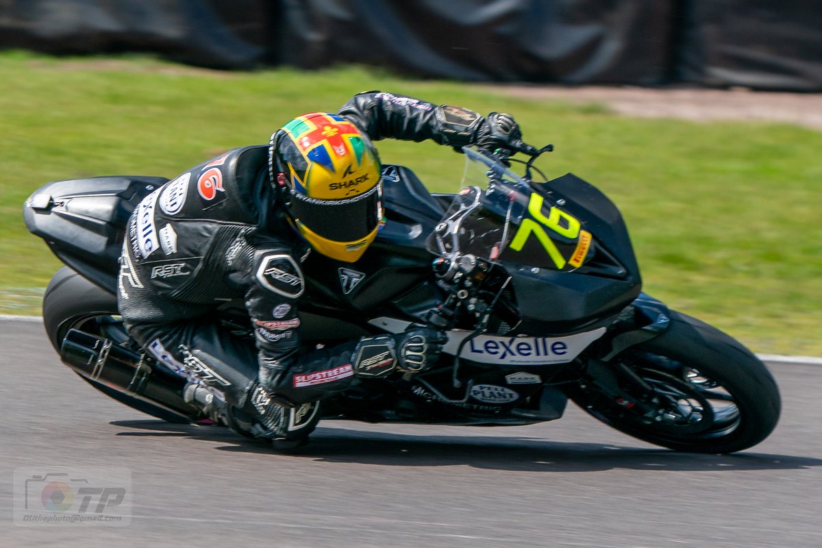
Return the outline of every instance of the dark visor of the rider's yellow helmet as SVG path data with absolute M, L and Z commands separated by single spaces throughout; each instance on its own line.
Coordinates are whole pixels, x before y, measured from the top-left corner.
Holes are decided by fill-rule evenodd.
M 361 240 L 380 222 L 380 185 L 345 200 L 320 200 L 292 192 L 291 214 L 313 233 L 332 242 Z

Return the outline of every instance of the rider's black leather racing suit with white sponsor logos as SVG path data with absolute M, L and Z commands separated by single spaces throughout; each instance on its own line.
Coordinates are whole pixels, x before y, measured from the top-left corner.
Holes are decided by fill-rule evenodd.
M 354 96 L 339 114 L 372 140 L 475 142 L 484 118 L 382 92 Z M 118 306 L 129 333 L 165 366 L 242 406 L 258 373 L 279 403 L 347 388 L 358 341 L 300 353 L 301 259 L 309 251 L 277 203 L 267 145 L 246 146 L 182 173 L 141 202 L 123 246 Z M 211 314 L 242 297 L 255 339 Z M 277 400 L 275 400 L 277 401 Z

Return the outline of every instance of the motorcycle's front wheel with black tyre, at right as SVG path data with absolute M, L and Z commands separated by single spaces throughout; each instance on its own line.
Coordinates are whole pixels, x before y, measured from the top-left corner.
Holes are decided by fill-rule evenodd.
M 688 315 L 671 311 L 671 324 L 662 334 L 626 349 L 611 363 L 626 366 L 651 389 L 642 394 L 654 402 L 651 412 L 649 403 L 643 408 L 630 398 L 605 394 L 595 379 L 567 393 L 593 417 L 651 444 L 733 453 L 760 443 L 779 419 L 782 401 L 764 364 L 734 338 Z M 623 389 L 636 392 L 635 387 Z

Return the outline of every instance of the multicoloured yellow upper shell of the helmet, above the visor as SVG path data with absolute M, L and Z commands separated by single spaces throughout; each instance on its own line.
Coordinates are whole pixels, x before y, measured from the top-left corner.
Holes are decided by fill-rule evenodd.
M 289 163 L 292 187 L 302 195 L 343 200 L 370 191 L 380 182 L 380 162 L 372 146 L 344 117 L 311 113 L 294 118 L 283 129 L 305 160 L 303 173 Z

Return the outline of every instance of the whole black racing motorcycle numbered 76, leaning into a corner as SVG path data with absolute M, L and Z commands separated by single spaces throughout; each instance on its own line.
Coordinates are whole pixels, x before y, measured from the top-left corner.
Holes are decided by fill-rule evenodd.
M 588 182 L 548 180 L 535 160 L 465 148 L 456 194 L 429 193 L 386 165 L 386 223 L 361 260 L 310 254 L 302 339 L 333 345 L 427 324 L 448 334 L 436 366 L 363 378 L 322 405 L 325 419 L 516 426 L 562 417 L 570 399 L 651 444 L 723 454 L 777 424 L 778 387 L 762 362 L 718 329 L 641 292 L 621 214 Z M 164 177 L 51 182 L 25 203 L 30 232 L 65 263 L 44 295 L 62 361 L 118 401 L 193 422 L 186 377 L 147 356 L 118 316 L 127 219 Z M 242 302 L 215 311 L 252 337 Z

